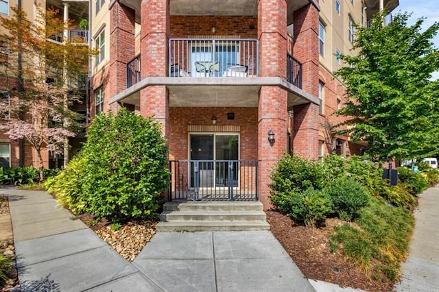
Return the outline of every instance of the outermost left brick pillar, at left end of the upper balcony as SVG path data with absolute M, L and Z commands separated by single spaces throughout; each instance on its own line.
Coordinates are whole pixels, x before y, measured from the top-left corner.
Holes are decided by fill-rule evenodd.
M 135 53 L 134 17 L 134 10 L 118 1 L 110 8 L 110 97 L 126 89 L 126 64 L 134 58 Z M 119 108 L 117 103 L 110 105 L 112 112 Z

